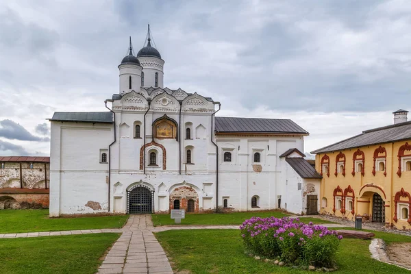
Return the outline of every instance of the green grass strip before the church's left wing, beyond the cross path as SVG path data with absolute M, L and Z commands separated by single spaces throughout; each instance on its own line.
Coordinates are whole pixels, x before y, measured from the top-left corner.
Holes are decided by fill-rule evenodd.
M 0 233 L 120 228 L 128 216 L 49 218 L 49 210 L 0 210 Z

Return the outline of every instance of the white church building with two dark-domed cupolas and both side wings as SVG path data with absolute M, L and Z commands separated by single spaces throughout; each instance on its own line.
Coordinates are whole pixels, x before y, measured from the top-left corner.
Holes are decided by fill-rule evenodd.
M 249 211 L 316 214 L 321 175 L 303 158 L 308 132 L 288 119 L 216 116 L 221 104 L 163 86 L 151 46 L 119 65 L 106 112 L 55 112 L 50 216 Z

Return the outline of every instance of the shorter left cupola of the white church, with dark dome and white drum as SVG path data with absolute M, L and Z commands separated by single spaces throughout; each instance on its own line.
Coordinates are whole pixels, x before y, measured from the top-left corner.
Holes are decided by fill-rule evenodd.
M 129 54 L 121 60 L 119 65 L 120 73 L 120 94 L 132 90 L 140 90 L 142 81 L 142 66 L 140 61 L 133 54 L 132 38 L 129 42 Z

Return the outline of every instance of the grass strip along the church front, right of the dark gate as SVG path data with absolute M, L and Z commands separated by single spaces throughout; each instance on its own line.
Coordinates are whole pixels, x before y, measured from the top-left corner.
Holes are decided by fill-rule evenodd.
M 186 219 L 182 219 L 182 223 L 179 225 L 240 225 L 253 216 L 282 218 L 288 216 L 288 214 L 279 211 L 186 214 Z M 170 214 L 152 214 L 151 219 L 154 226 L 175 225 L 174 219 L 170 218 Z M 312 223 L 332 223 L 311 217 L 301 218 L 300 220 L 304 223 L 310 221 Z

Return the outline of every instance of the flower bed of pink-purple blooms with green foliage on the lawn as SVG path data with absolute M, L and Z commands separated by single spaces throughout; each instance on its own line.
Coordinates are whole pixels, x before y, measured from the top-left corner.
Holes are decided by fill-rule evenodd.
M 339 240 L 336 232 L 322 225 L 306 225 L 298 218 L 253 217 L 240 226 L 248 251 L 287 264 L 332 267 Z

